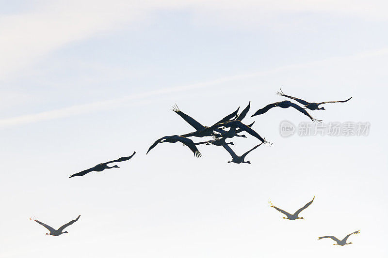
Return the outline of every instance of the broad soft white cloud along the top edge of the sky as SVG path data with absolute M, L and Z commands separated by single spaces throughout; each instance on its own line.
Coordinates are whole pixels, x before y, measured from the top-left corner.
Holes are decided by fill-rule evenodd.
M 0 79 L 71 42 L 136 26 L 159 9 L 186 8 L 196 22 L 242 28 L 242 24 L 274 27 L 277 19 L 299 12 L 387 20 L 387 5 L 379 0 L 43 1 L 27 13 L 0 16 Z

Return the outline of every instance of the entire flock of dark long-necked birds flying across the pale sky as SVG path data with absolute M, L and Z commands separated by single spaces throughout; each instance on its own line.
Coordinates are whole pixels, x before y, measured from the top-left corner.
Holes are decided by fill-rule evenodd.
M 299 98 L 296 98 L 296 97 L 292 97 L 292 96 L 286 95 L 286 94 L 283 93 L 283 91 L 281 89 L 280 89 L 280 91 L 278 91 L 276 93 L 278 95 L 280 95 L 280 96 L 284 96 L 284 97 L 287 97 L 289 99 L 295 100 L 298 103 L 302 104 L 304 107 L 299 106 L 299 105 L 297 105 L 297 104 L 295 104 L 295 103 L 293 103 L 293 102 L 291 102 L 289 100 L 284 100 L 284 101 L 275 102 L 275 103 L 269 104 L 267 106 L 264 106 L 263 108 L 260 108 L 251 117 L 264 114 L 268 110 L 270 110 L 271 108 L 277 107 L 277 106 L 281 107 L 281 108 L 293 107 L 296 110 L 298 110 L 299 112 L 301 112 L 302 114 L 306 115 L 309 119 L 311 119 L 311 121 L 313 121 L 313 122 L 321 122 L 321 120 L 314 119 L 307 112 L 306 109 L 310 109 L 310 110 L 324 110 L 324 107 L 319 107 L 319 106 L 322 105 L 322 104 L 326 104 L 326 103 L 347 102 L 347 101 L 349 101 L 352 98 L 352 97 L 350 97 L 349 99 L 344 100 L 344 101 L 326 101 L 326 102 L 316 103 L 316 102 L 307 102 L 305 100 L 302 100 L 302 99 L 299 99 Z M 220 121 L 214 123 L 211 126 L 204 126 L 204 125 L 202 125 L 201 123 L 196 121 L 194 118 L 192 118 L 189 115 L 187 115 L 187 114 L 183 113 L 182 111 L 180 111 L 178 106 L 175 105 L 175 106 L 172 107 L 171 110 L 174 111 L 175 113 L 177 113 L 183 120 L 185 120 L 187 123 L 189 123 L 192 127 L 194 127 L 195 131 L 191 132 L 191 133 L 188 133 L 188 134 L 184 134 L 184 135 L 172 135 L 172 136 L 161 137 L 161 138 L 157 139 L 149 147 L 149 149 L 146 152 L 146 154 L 148 154 L 148 152 L 150 152 L 153 148 L 155 148 L 159 143 L 163 143 L 163 142 L 169 142 L 169 143 L 180 142 L 183 145 L 187 146 L 194 153 L 195 157 L 200 158 L 202 156 L 202 154 L 201 154 L 201 152 L 199 152 L 197 146 L 201 145 L 201 144 L 206 144 L 206 145 L 222 146 L 230 154 L 230 156 L 232 157 L 232 160 L 228 161 L 227 163 L 233 162 L 233 163 L 237 163 L 237 164 L 240 164 L 240 163 L 251 164 L 249 161 L 245 161 L 246 155 L 248 155 L 250 152 L 254 151 L 256 148 L 258 148 L 262 144 L 270 144 L 270 145 L 272 145 L 272 143 L 266 141 L 265 138 L 261 137 L 255 130 L 253 130 L 251 128 L 252 125 L 255 122 L 253 122 L 253 123 L 251 123 L 249 125 L 245 125 L 245 124 L 242 123 L 242 120 L 245 118 L 245 116 L 247 115 L 247 113 L 248 113 L 248 111 L 250 109 L 250 104 L 251 104 L 251 102 L 249 102 L 248 106 L 246 106 L 242 110 L 242 112 L 240 114 L 238 114 L 239 109 L 240 109 L 240 107 L 239 107 L 239 108 L 237 108 L 236 111 L 234 111 L 233 113 L 227 115 L 226 117 L 224 117 L 223 119 L 221 119 Z M 226 129 L 228 129 L 228 130 L 226 130 Z M 250 134 L 253 137 L 256 137 L 257 139 L 259 139 L 261 141 L 261 143 L 256 145 L 255 147 L 253 147 L 249 151 L 243 153 L 241 156 L 239 156 L 229 147 L 229 145 L 234 145 L 234 143 L 233 142 L 226 142 L 226 140 L 227 140 L 227 138 L 233 138 L 233 137 L 244 137 L 244 138 L 246 138 L 245 135 L 241 134 L 242 132 L 245 132 L 247 134 Z M 192 139 L 190 139 L 189 137 L 212 137 L 212 140 L 203 141 L 203 142 L 195 142 L 194 143 L 194 141 Z M 103 171 L 105 169 L 110 169 L 110 168 L 113 168 L 113 167 L 114 168 L 119 168 L 117 165 L 109 167 L 108 164 L 115 163 L 115 162 L 127 161 L 127 160 L 131 159 L 135 155 L 135 153 L 136 152 L 133 152 L 133 154 L 128 156 L 128 157 L 121 157 L 119 159 L 115 159 L 115 160 L 108 161 L 108 162 L 105 162 L 105 163 L 100 163 L 100 164 L 96 165 L 95 167 L 91 167 L 91 168 L 85 169 L 85 170 L 83 170 L 81 172 L 75 173 L 75 174 L 71 175 L 69 178 L 76 177 L 76 176 L 84 176 L 87 173 L 92 172 L 92 171 L 101 172 L 101 171 Z M 275 210 L 285 214 L 286 217 L 283 217 L 284 219 L 289 219 L 289 220 L 304 219 L 303 217 L 299 217 L 299 213 L 302 212 L 303 210 L 305 210 L 308 206 L 310 206 L 312 204 L 312 202 L 314 201 L 314 198 L 315 197 L 313 197 L 313 199 L 310 202 L 308 202 L 305 206 L 303 206 L 302 208 L 300 208 L 299 210 L 297 210 L 293 214 L 291 214 L 289 212 L 286 212 L 286 211 L 276 207 L 275 205 L 272 204 L 271 201 L 269 201 L 269 204 Z M 66 223 L 65 225 L 63 225 L 62 227 L 60 227 L 58 229 L 54 229 L 54 228 L 50 227 L 49 225 L 47 225 L 47 224 L 45 224 L 43 222 L 38 221 L 36 218 L 31 218 L 31 220 L 33 220 L 33 221 L 37 222 L 38 224 L 42 225 L 43 227 L 47 228 L 50 231 L 50 233 L 46 233 L 46 235 L 59 236 L 59 235 L 64 234 L 64 233 L 68 233 L 67 231 L 63 231 L 63 230 L 66 227 L 68 227 L 68 226 L 72 225 L 73 223 L 75 223 L 76 221 L 78 221 L 80 216 L 81 215 L 79 215 L 75 220 L 72 220 L 72 221 Z M 345 244 L 351 244 L 352 242 L 347 243 L 347 239 L 352 234 L 358 234 L 358 233 L 359 233 L 359 230 L 357 230 L 357 231 L 355 231 L 353 233 L 350 233 L 349 235 L 344 237 L 342 240 L 339 240 L 338 238 L 336 238 L 334 236 L 323 236 L 323 237 L 319 237 L 318 239 L 320 240 L 320 239 L 323 239 L 323 238 L 331 238 L 332 240 L 337 242 L 336 244 L 343 246 Z

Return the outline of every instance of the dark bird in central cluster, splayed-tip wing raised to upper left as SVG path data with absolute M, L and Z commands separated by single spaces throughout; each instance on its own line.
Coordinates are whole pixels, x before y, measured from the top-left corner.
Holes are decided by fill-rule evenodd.
M 236 118 L 237 117 L 237 112 L 239 111 L 239 109 L 240 109 L 240 107 L 237 108 L 236 111 L 234 111 L 233 113 L 227 115 L 226 117 L 224 117 L 223 119 L 221 119 L 220 121 L 218 121 L 216 123 L 222 123 L 222 122 L 229 121 L 231 119 Z M 207 131 L 206 130 L 207 128 L 209 128 L 208 126 L 203 126 L 201 123 L 196 121 L 191 116 L 189 116 L 189 115 L 183 113 L 182 111 L 180 111 L 179 107 L 177 106 L 177 104 L 175 104 L 175 106 L 173 106 L 171 108 L 171 110 L 174 111 L 175 113 L 177 113 L 181 118 L 183 118 L 186 122 L 188 122 L 196 130 L 195 132 L 192 132 L 192 133 L 189 133 L 189 134 L 185 134 L 185 135 L 181 135 L 182 137 L 193 137 L 193 136 L 194 137 L 206 137 L 206 136 L 213 136 L 213 135 L 215 135 L 212 131 Z M 226 133 L 223 130 L 215 130 L 215 131 L 220 133 L 220 134 Z

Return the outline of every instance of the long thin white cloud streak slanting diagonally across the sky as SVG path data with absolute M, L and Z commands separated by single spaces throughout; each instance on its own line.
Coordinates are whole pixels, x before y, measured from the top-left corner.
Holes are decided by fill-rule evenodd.
M 65 117 L 71 117 L 71 116 L 81 115 L 85 113 L 90 113 L 98 110 L 106 110 L 106 109 L 122 106 L 132 100 L 139 100 L 139 101 L 131 104 L 131 106 L 141 106 L 141 105 L 149 104 L 150 100 L 146 98 L 149 98 L 152 96 L 191 91 L 191 90 L 196 90 L 201 88 L 208 88 L 208 87 L 216 86 L 230 81 L 266 76 L 266 75 L 276 74 L 279 72 L 288 71 L 292 69 L 318 65 L 322 63 L 330 63 L 330 62 L 338 63 L 339 61 L 354 61 L 354 60 L 360 60 L 360 59 L 372 58 L 372 57 L 384 56 L 384 55 L 388 55 L 388 48 L 361 52 L 351 56 L 332 57 L 332 58 L 328 58 L 320 61 L 286 65 L 286 66 L 281 66 L 281 67 L 277 67 L 266 71 L 258 71 L 254 73 L 246 73 L 246 74 L 235 75 L 235 76 L 226 76 L 223 78 L 214 79 L 206 82 L 194 83 L 194 84 L 189 84 L 185 86 L 164 88 L 161 90 L 142 92 L 142 93 L 132 94 L 129 96 L 115 98 L 111 100 L 104 100 L 104 101 L 98 101 L 98 102 L 93 102 L 88 104 L 75 105 L 75 106 L 40 112 L 36 114 L 2 119 L 0 120 L 0 127 L 15 126 L 19 124 L 33 123 L 33 122 L 45 121 L 45 120 L 53 120 L 53 119 L 59 119 L 59 118 L 65 118 Z

